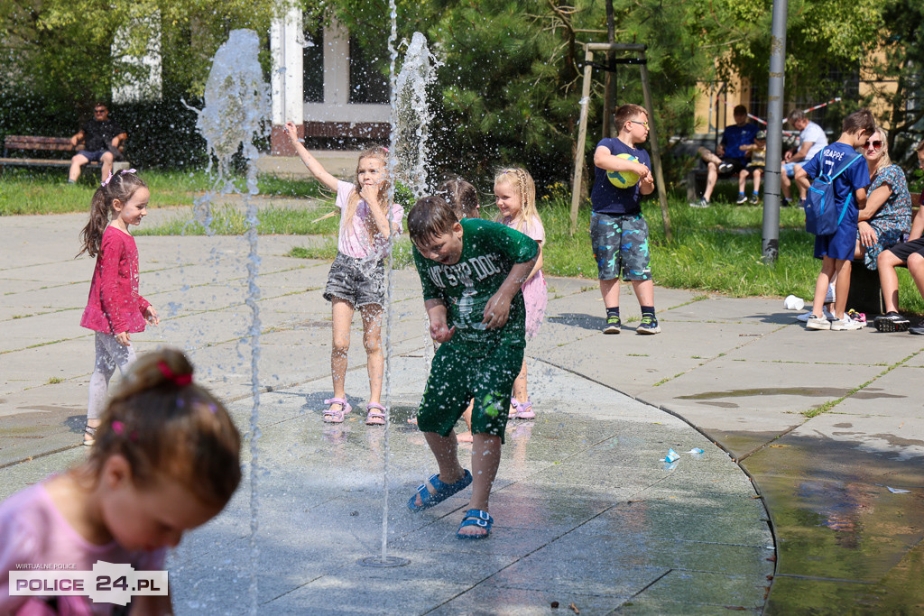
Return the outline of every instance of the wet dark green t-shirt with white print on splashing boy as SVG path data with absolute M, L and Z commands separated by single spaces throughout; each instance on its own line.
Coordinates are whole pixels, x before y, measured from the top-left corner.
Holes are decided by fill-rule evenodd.
M 504 283 L 516 263 L 525 263 L 539 254 L 539 244 L 529 236 L 501 223 L 464 218 L 462 255 L 457 263 L 444 265 L 425 259 L 417 247 L 414 262 L 423 286 L 423 298 L 441 299 L 446 320 L 456 332 L 451 344 L 466 344 L 487 353 L 496 344 L 526 346 L 526 307 L 517 291 L 510 302 L 510 316 L 504 327 L 485 330 L 481 324 L 484 307 Z

